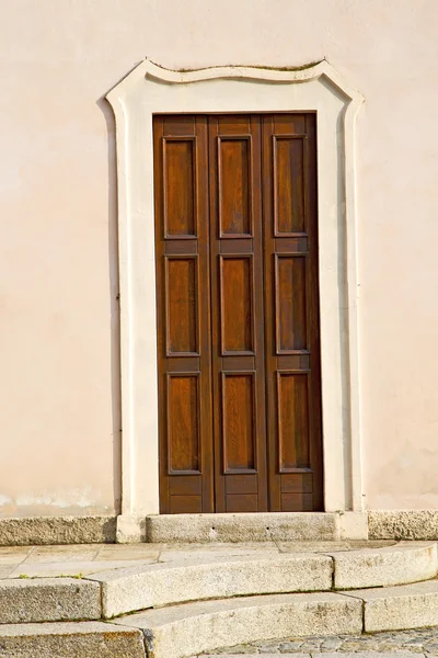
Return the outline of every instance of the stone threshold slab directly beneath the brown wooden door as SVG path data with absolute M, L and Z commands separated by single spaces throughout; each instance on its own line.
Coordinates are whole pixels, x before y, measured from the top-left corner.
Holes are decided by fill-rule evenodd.
M 146 518 L 148 542 L 327 541 L 337 537 L 335 513 L 157 514 Z

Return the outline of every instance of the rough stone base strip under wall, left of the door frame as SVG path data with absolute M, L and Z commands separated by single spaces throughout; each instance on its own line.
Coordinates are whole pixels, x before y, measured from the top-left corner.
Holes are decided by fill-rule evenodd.
M 0 519 L 0 546 L 114 544 L 116 517 L 25 517 Z

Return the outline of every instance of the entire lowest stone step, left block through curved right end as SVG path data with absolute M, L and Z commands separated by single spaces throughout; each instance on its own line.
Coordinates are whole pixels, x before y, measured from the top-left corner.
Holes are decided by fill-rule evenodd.
M 430 580 L 394 588 L 196 601 L 129 614 L 112 623 L 3 624 L 0 655 L 187 658 L 285 637 L 345 637 L 437 624 L 438 581 Z

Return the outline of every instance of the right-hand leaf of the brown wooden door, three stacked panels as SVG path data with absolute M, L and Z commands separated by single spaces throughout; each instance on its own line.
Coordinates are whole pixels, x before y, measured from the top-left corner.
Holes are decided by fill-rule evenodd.
M 314 114 L 263 117 L 269 509 L 322 509 Z

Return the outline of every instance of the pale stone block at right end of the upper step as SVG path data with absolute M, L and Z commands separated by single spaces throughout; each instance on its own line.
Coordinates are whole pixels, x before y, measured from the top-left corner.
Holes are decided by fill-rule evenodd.
M 387 587 L 435 578 L 436 543 L 331 553 L 336 589 Z

